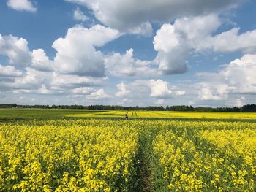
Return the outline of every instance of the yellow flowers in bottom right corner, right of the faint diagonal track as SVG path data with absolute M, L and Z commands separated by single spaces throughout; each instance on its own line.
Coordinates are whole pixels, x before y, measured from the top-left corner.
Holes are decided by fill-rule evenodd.
M 201 131 L 201 137 L 217 147 L 230 164 L 226 174 L 234 189 L 255 191 L 256 178 L 256 130 L 213 130 Z

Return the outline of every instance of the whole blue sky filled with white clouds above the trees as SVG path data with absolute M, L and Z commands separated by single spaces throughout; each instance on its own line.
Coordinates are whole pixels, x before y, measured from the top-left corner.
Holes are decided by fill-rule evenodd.
M 256 1 L 1 0 L 0 103 L 256 103 Z

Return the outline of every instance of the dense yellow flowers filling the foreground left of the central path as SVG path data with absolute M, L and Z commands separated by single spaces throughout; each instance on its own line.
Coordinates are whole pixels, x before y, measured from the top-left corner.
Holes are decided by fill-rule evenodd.
M 135 173 L 138 133 L 97 124 L 1 125 L 0 191 L 127 191 Z

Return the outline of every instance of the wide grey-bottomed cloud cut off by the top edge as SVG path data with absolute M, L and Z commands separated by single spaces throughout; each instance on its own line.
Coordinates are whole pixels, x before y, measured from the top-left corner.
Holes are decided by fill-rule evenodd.
M 219 12 L 223 9 L 236 7 L 243 0 L 211 0 L 211 1 L 176 1 L 176 0 L 66 0 L 83 4 L 92 9 L 95 17 L 106 26 L 119 31 L 145 31 L 151 23 L 168 23 L 171 20 L 192 15 L 202 15 L 206 12 Z M 142 28 L 142 29 L 138 29 Z M 136 31 L 136 30 L 135 30 Z

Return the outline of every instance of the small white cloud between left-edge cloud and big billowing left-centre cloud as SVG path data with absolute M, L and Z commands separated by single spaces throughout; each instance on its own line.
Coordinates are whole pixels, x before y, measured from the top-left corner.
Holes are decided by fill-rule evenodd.
M 42 72 L 53 71 L 53 61 L 50 61 L 44 50 L 33 50 L 32 56 L 31 67 Z

